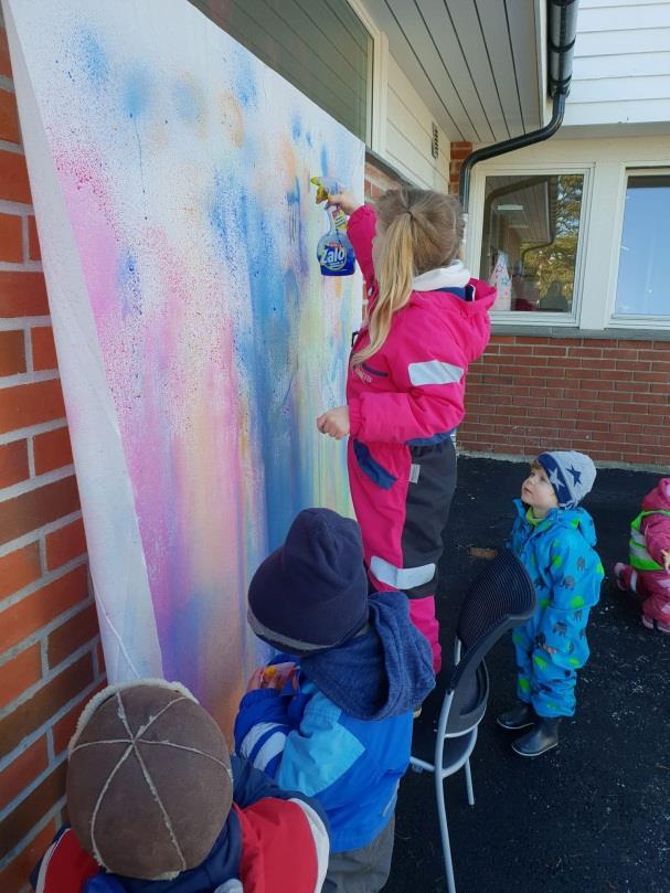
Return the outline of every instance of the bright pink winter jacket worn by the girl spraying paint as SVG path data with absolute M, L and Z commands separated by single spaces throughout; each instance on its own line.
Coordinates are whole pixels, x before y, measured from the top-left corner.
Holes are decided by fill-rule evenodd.
M 349 238 L 365 278 L 371 304 L 376 296 L 372 240 L 376 217 L 363 205 L 349 220 Z M 465 415 L 468 365 L 490 337 L 488 310 L 496 289 L 471 279 L 460 262 L 428 270 L 414 280 L 408 304 L 398 310 L 381 350 L 349 369 L 347 403 L 351 436 L 365 443 L 432 442 L 453 430 Z M 475 291 L 466 301 L 448 288 Z M 353 350 L 370 342 L 361 329 Z

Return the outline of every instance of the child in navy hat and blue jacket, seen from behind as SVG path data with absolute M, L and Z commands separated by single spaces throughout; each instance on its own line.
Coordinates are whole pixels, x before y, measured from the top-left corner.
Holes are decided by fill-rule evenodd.
M 248 620 L 280 653 L 251 679 L 235 745 L 331 825 L 323 891 L 375 893 L 393 851 L 412 712 L 435 685 L 430 648 L 397 592 L 368 597 L 358 524 L 306 509 L 256 571 Z

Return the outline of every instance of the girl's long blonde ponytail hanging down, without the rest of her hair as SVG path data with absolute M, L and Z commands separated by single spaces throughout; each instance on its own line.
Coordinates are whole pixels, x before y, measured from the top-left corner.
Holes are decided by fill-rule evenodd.
M 393 315 L 410 300 L 414 279 L 414 225 L 412 214 L 406 211 L 395 217 L 384 233 L 377 274 L 379 295 L 370 317 L 370 343 L 354 353 L 352 365 L 361 365 L 383 347 Z

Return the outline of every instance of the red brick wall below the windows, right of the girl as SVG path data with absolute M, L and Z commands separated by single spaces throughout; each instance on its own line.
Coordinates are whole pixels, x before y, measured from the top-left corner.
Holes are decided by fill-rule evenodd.
M 670 342 L 493 336 L 470 366 L 461 449 L 667 469 Z

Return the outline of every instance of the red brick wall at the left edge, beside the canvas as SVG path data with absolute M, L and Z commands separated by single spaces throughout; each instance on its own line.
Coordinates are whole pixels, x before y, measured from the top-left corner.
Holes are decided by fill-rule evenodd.
M 3 29 L 0 75 L 0 891 L 19 893 L 104 667 Z

